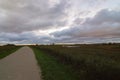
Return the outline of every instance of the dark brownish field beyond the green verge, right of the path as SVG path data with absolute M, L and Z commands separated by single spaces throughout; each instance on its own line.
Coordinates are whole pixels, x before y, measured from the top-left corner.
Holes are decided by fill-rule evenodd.
M 54 58 L 59 64 L 70 68 L 69 70 L 76 74 L 76 78 L 73 80 L 120 80 L 120 44 L 75 46 L 77 47 L 62 45 L 37 47 L 45 51 L 45 56 L 49 55 L 51 59 Z M 50 64 L 47 63 L 47 66 Z M 52 76 L 51 73 L 48 73 L 48 75 Z M 59 79 L 56 78 L 55 80 Z

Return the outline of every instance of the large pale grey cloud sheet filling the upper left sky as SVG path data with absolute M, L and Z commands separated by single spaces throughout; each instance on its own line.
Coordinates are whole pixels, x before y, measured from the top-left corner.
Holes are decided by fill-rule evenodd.
M 14 4 L 13 4 L 14 3 Z M 65 25 L 67 0 L 52 3 L 45 0 L 4 0 L 0 1 L 0 31 L 23 32 L 48 29 Z

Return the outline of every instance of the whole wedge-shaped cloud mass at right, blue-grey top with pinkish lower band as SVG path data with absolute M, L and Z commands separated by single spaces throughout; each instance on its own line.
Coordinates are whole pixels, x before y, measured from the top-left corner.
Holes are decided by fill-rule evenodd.
M 68 37 L 71 42 L 111 41 L 120 40 L 120 11 L 101 10 L 93 18 L 87 18 L 84 23 L 75 19 L 74 27 L 51 33 L 54 37 Z M 73 26 L 72 25 L 72 26 Z M 103 40 L 102 40 L 103 39 Z M 77 40 L 77 41 L 76 41 Z M 68 40 L 69 41 L 69 40 Z

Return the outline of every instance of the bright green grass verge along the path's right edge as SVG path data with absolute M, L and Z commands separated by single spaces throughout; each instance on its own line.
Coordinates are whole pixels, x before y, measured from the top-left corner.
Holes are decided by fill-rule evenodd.
M 32 47 L 32 49 L 41 67 L 43 80 L 78 80 L 69 66 L 59 63 L 56 58 L 39 48 Z

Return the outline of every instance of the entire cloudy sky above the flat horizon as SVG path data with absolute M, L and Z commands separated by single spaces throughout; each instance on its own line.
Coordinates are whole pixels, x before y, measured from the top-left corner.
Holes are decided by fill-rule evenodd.
M 0 0 L 0 44 L 120 42 L 120 0 Z

